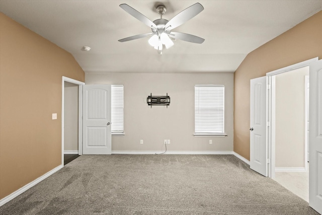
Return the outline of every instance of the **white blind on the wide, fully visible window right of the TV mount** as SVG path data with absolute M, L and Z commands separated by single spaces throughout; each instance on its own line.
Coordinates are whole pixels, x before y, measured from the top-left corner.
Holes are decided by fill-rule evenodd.
M 195 133 L 224 133 L 224 85 L 195 86 Z

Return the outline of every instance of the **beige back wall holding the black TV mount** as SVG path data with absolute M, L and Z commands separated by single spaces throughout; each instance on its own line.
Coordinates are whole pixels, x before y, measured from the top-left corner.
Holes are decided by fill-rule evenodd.
M 112 137 L 113 151 L 232 151 L 233 74 L 86 74 L 86 84 L 124 85 L 124 137 Z M 227 137 L 194 137 L 194 86 L 225 85 Z M 169 94 L 171 104 L 146 104 L 148 95 Z M 140 139 L 144 144 L 140 145 Z M 209 139 L 213 144 L 209 145 Z

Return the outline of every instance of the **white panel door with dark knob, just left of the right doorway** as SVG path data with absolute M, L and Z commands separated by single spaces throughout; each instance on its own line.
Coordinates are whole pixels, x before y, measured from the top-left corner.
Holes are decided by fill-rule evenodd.
M 251 80 L 251 169 L 267 177 L 266 77 Z

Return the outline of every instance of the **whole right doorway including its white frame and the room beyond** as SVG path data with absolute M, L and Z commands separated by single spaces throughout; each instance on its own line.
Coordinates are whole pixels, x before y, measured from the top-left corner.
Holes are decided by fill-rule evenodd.
M 268 73 L 269 177 L 308 201 L 308 75 L 306 60 Z

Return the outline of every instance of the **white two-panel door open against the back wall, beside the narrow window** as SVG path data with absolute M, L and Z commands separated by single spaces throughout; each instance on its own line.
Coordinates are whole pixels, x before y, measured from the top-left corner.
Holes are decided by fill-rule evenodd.
M 111 85 L 84 85 L 83 154 L 111 152 Z

